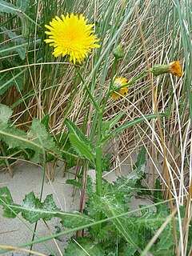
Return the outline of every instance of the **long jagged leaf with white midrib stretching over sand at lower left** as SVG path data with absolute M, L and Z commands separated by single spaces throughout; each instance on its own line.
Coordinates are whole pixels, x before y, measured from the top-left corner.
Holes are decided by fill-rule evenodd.
M 78 227 L 93 222 L 93 219 L 84 214 L 65 213 L 54 203 L 53 195 L 47 195 L 44 202 L 35 197 L 34 192 L 26 194 L 21 205 L 15 204 L 7 187 L 0 188 L 0 205 L 2 215 L 6 218 L 15 218 L 18 213 L 30 223 L 38 222 L 41 218 L 49 221 L 51 218 L 61 218 L 62 226 Z

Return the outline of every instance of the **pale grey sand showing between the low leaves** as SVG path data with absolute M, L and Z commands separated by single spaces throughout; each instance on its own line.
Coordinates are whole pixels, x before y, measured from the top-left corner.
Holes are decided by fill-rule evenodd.
M 151 165 L 148 163 L 146 165 L 147 172 L 150 172 Z M 60 168 L 61 170 L 62 168 Z M 118 170 L 119 174 L 127 174 L 130 170 L 130 164 L 127 165 L 126 162 L 121 165 L 121 169 Z M 112 172 L 110 175 L 106 175 L 105 178 L 109 182 L 116 180 L 117 172 Z M 90 170 L 90 175 L 94 177 L 94 170 Z M 70 177 L 66 177 L 70 178 Z M 58 208 L 64 211 L 73 211 L 78 210 L 79 206 L 79 192 L 76 192 L 75 197 L 72 198 L 73 186 L 66 184 L 66 178 L 62 177 L 62 170 L 56 175 L 54 182 L 48 182 L 44 185 L 43 190 L 43 200 L 46 198 L 46 195 L 53 194 L 54 202 Z M 14 166 L 14 178 L 10 178 L 8 172 L 0 173 L 0 186 L 7 186 L 10 190 L 12 198 L 15 203 L 22 203 L 22 199 L 25 197 L 25 194 L 29 194 L 31 191 L 34 191 L 34 194 L 39 197 L 41 186 L 42 186 L 42 167 L 35 166 L 30 163 L 18 163 Z M 132 198 L 131 209 L 138 209 L 139 205 L 150 205 L 150 199 L 144 198 Z M 55 226 L 59 226 L 61 231 L 64 231 L 60 224 L 59 218 L 53 218 L 50 221 L 46 222 L 49 226 L 47 228 L 46 224 L 40 220 L 38 222 L 36 238 L 42 238 L 49 236 L 50 234 L 55 233 Z M 20 244 L 30 242 L 34 230 L 34 225 L 31 225 L 30 222 L 27 222 L 22 218 L 21 214 L 18 214 L 17 218 L 8 219 L 3 218 L 1 214 L 0 207 L 0 245 L 6 246 L 18 246 Z M 58 240 L 51 240 L 44 244 L 40 243 L 33 246 L 33 250 L 46 254 L 46 255 L 62 255 L 64 248 L 66 246 L 66 241 L 69 239 L 69 235 L 60 238 Z M 59 248 L 59 249 L 58 249 Z M 29 247 L 26 249 L 30 249 Z M 49 250 L 50 249 L 50 250 Z M 59 252 L 59 250 L 61 252 Z M 28 255 L 22 251 L 11 251 L 0 255 L 5 256 L 18 256 L 18 255 Z M 76 255 L 74 255 L 76 256 Z

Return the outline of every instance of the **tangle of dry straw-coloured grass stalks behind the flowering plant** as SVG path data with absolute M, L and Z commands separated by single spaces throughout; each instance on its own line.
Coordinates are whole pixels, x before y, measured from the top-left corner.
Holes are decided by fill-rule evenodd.
M 138 4 L 138 17 L 134 11 L 130 14 L 121 33 L 118 34 L 117 40 L 112 39 L 126 17 L 126 11 L 130 10 L 129 3 L 118 1 L 117 3 L 113 2 L 110 6 L 107 1 L 90 1 L 86 8 L 82 8 L 83 2 L 82 5 L 75 2 L 74 9 L 76 12 L 84 10 L 84 14 L 98 24 L 96 31 L 102 44 L 100 56 L 105 55 L 103 58 L 99 58 L 94 52 L 83 66 L 83 78 L 98 101 L 105 97 L 110 84 L 110 73 L 114 62 L 110 53 L 114 43 L 118 44 L 119 40 L 124 42 L 125 56 L 118 63 L 116 75 L 126 77 L 128 81 L 154 64 L 166 64 L 175 58 L 182 63 L 184 71 L 182 78 L 162 75 L 152 78 L 153 85 L 151 85 L 150 75 L 146 74 L 145 77 L 130 86 L 126 99 L 114 101 L 113 98 L 110 98 L 104 119 L 110 120 L 124 111 L 125 115 L 118 124 L 120 125 L 134 118 L 151 114 L 157 108 L 158 113 L 168 113 L 168 118 L 161 119 L 162 134 L 157 120 L 154 120 L 134 126 L 124 131 L 118 138 L 114 138 L 111 142 L 113 144 L 111 149 L 115 149 L 112 162 L 114 162 L 114 169 L 121 166 L 125 158 L 128 158 L 131 163 L 131 153 L 138 152 L 142 145 L 146 146 L 151 162 L 149 173 L 151 178 L 149 178 L 148 184 L 150 189 L 154 188 L 155 179 L 160 177 L 164 184 L 163 190 L 167 191 L 167 186 L 170 186 L 170 194 L 175 198 L 177 208 L 180 204 L 187 202 L 186 222 L 183 226 L 180 222 L 181 235 L 178 244 L 178 251 L 184 255 L 188 234 L 187 224 L 191 218 L 192 140 L 191 113 L 186 97 L 185 66 L 187 63 L 185 49 L 183 49 L 185 46 L 182 44 L 182 31 L 176 10 L 178 7 L 175 6 L 178 3 L 180 4 L 179 8 L 182 8 L 182 1 L 176 3 L 174 1 L 141 1 Z M 60 6 L 62 6 L 62 2 L 60 2 Z M 37 19 L 45 18 L 43 8 L 43 4 L 39 2 Z M 169 14 L 167 14 L 168 9 L 170 10 Z M 62 9 L 58 8 L 58 13 L 61 11 Z M 185 11 L 187 11 L 187 6 L 183 12 Z M 142 31 L 142 36 L 139 29 Z M 37 27 L 35 32 L 37 32 Z M 37 34 L 34 35 L 37 36 Z M 42 119 L 45 114 L 50 114 L 50 132 L 58 134 L 61 130 L 65 130 L 63 118 L 68 117 L 75 120 L 76 124 L 82 127 L 86 117 L 87 130 L 85 132 L 93 136 L 94 130 L 91 130 L 90 126 L 94 122 L 95 110 L 91 102 L 87 100 L 87 94 L 75 73 L 74 66 L 67 62 L 63 63 L 62 58 L 54 60 L 49 57 L 50 50 L 45 46 L 41 47 L 44 56 L 40 61 L 38 61 L 41 55 L 39 55 L 38 46 L 35 46 L 33 51 L 34 63 L 30 62 L 30 58 L 26 58 L 24 89 L 18 91 L 11 87 L 6 94 L 2 95 L 1 102 L 8 106 L 14 106 L 12 119 L 23 129 L 27 130 L 32 118 Z M 14 55 L 2 58 L 11 58 Z M 100 63 L 98 66 L 95 66 L 96 60 Z M 52 64 L 50 65 L 49 62 Z M 90 70 L 92 71 L 90 72 Z M 156 103 L 154 102 L 155 97 L 157 98 Z M 22 102 L 16 106 L 15 102 L 21 98 Z M 163 167 L 159 169 L 159 162 L 162 160 L 166 162 L 169 178 L 165 175 Z M 167 197 L 168 194 L 165 192 L 165 198 Z M 178 255 L 180 254 L 178 253 Z

